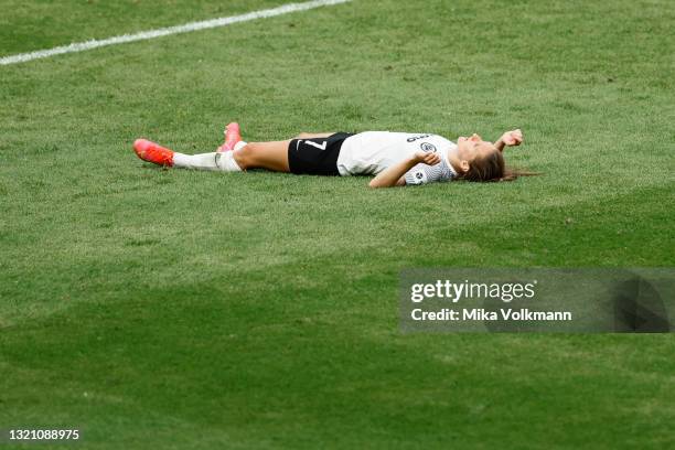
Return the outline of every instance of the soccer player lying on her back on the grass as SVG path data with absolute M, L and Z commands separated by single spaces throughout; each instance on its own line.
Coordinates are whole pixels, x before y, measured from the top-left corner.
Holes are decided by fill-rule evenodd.
M 136 140 L 133 149 L 140 159 L 164 167 L 375 175 L 371 188 L 389 188 L 451 180 L 514 180 L 518 173 L 505 168 L 502 151 L 522 142 L 521 130 L 513 130 L 494 143 L 475 133 L 454 143 L 438 135 L 388 131 L 301 133 L 290 140 L 247 143 L 238 124 L 233 122 L 225 130 L 225 143 L 215 152 L 183 154 L 146 139 Z

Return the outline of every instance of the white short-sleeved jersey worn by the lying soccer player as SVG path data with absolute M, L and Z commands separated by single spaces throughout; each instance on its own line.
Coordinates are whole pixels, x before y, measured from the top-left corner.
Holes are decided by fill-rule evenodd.
M 457 150 L 454 142 L 438 135 L 389 131 L 366 131 L 346 138 L 338 156 L 338 171 L 343 176 L 376 175 L 419 150 L 438 152 L 441 162 L 415 165 L 404 175 L 406 184 L 450 181 L 456 176 L 448 161 L 448 152 Z

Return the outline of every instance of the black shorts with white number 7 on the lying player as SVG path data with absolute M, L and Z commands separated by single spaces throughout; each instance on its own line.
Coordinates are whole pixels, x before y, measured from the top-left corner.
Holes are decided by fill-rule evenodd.
M 291 173 L 309 175 L 340 175 L 338 156 L 349 132 L 336 132 L 328 138 L 293 139 L 288 144 L 288 167 Z

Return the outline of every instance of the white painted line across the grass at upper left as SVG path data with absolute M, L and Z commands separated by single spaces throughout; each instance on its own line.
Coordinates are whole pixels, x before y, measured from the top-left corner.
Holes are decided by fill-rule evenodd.
M 249 20 L 272 18 L 275 15 L 288 14 L 289 12 L 306 11 L 309 9 L 328 7 L 332 4 L 346 3 L 352 0 L 313 0 L 304 3 L 287 3 L 277 8 L 267 10 L 248 12 L 240 15 L 232 15 L 229 18 L 219 18 L 204 20 L 201 22 L 190 22 L 183 25 L 169 26 L 158 30 L 142 31 L 136 34 L 124 34 L 121 36 L 108 38 L 100 41 L 77 42 L 69 45 L 57 46 L 49 50 L 39 50 L 36 52 L 20 53 L 18 55 L 0 57 L 0 65 L 25 63 L 32 60 L 62 55 L 64 53 L 84 52 L 85 50 L 98 49 L 107 45 L 126 44 L 127 42 L 146 41 L 168 36 L 170 34 L 190 33 L 197 30 L 207 30 L 212 28 L 226 26 L 233 23 L 247 22 Z

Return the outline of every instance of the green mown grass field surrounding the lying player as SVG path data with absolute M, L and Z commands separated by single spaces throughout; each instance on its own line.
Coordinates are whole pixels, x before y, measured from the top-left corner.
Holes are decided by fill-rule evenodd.
M 3 0 L 0 56 L 277 1 Z M 110 3 L 110 4 L 108 4 Z M 675 340 L 401 334 L 407 267 L 672 267 L 672 1 L 366 1 L 0 66 L 0 428 L 82 448 L 673 448 Z M 543 176 L 161 170 L 300 131 Z

